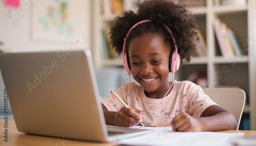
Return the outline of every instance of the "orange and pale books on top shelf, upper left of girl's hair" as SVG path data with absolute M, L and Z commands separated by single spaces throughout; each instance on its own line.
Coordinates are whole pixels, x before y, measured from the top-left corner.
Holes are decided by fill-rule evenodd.
M 101 0 L 101 9 L 103 15 L 121 14 L 122 0 Z

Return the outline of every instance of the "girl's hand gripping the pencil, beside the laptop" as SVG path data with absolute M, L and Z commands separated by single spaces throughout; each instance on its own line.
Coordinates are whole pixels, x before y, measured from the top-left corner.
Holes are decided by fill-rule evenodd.
M 115 116 L 116 126 L 131 127 L 142 123 L 142 112 L 134 108 L 122 107 Z

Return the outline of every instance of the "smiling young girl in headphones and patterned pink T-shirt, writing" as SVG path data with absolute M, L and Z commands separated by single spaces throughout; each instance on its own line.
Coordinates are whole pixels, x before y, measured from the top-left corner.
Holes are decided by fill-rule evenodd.
M 168 82 L 180 62 L 190 61 L 199 39 L 195 19 L 184 6 L 167 0 L 138 3 L 138 13 L 124 12 L 111 29 L 116 51 L 123 53 L 124 67 L 136 82 L 101 100 L 108 125 L 173 127 L 175 131 L 220 131 L 236 129 L 232 114 L 189 81 Z M 138 84 L 139 83 L 139 84 Z

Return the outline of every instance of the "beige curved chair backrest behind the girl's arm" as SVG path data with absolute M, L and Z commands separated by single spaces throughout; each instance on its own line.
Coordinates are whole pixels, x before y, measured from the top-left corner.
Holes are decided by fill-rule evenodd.
M 245 104 L 244 90 L 239 88 L 204 88 L 203 91 L 212 101 L 233 114 L 239 128 Z

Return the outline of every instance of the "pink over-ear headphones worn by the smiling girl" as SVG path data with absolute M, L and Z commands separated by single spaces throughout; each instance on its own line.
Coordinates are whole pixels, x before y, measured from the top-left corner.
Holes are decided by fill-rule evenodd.
M 123 39 L 123 41 L 124 41 L 124 43 L 123 43 L 123 66 L 124 66 L 125 70 L 127 71 L 127 73 L 129 75 L 131 75 L 131 66 L 130 66 L 130 61 L 127 60 L 127 59 L 129 59 L 129 57 L 126 54 L 126 38 L 129 36 L 129 33 L 131 32 L 131 30 L 134 29 L 136 26 L 138 26 L 140 23 L 150 22 L 150 21 L 151 21 L 150 19 L 146 19 L 146 20 L 142 20 L 142 21 L 137 22 L 128 31 L 128 33 L 126 34 L 126 37 Z M 167 29 L 167 31 L 172 36 L 173 41 L 174 41 L 174 45 L 175 45 L 175 50 L 173 49 L 170 52 L 170 56 L 169 56 L 169 72 L 172 72 L 173 75 L 174 75 L 174 72 L 177 71 L 180 67 L 180 55 L 178 54 L 177 43 L 176 43 L 176 40 L 174 38 L 173 32 L 165 24 L 163 24 L 163 26 Z

